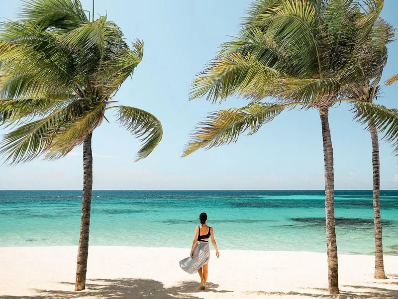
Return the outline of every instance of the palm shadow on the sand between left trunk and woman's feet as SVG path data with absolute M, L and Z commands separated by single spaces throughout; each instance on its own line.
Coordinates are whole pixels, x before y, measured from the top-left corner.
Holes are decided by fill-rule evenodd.
M 33 296 L 0 296 L 0 299 L 201 299 L 192 293 L 213 292 L 227 293 L 231 291 L 217 291 L 218 285 L 208 283 L 206 290 L 198 290 L 197 282 L 182 282 L 177 286 L 165 288 L 161 282 L 149 279 L 96 279 L 92 284 L 86 284 L 86 290 L 80 292 L 60 290 L 33 290 Z M 72 283 L 61 283 L 73 286 Z

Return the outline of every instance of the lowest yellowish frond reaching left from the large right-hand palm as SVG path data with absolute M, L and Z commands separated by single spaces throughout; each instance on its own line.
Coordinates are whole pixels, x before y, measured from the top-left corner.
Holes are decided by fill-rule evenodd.
M 183 156 L 201 148 L 210 149 L 236 142 L 239 135 L 245 131 L 248 131 L 248 135 L 252 135 L 262 125 L 272 121 L 285 107 L 284 104 L 257 102 L 240 109 L 231 108 L 214 112 L 196 127 L 184 149 Z

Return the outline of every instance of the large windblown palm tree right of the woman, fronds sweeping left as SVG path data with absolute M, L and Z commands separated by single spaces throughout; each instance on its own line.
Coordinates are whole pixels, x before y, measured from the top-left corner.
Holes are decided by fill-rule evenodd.
M 364 7 L 352 0 L 258 0 L 249 10 L 240 35 L 222 45 L 219 55 L 195 79 L 191 92 L 191 99 L 205 96 L 216 103 L 238 95 L 250 103 L 212 113 L 199 123 L 184 156 L 200 148 L 236 142 L 245 131 L 252 135 L 286 108 L 318 110 L 330 294 L 339 293 L 339 289 L 328 111 L 351 94 L 353 85 L 374 76 L 372 72 L 356 71 L 383 1 L 369 4 Z M 260 102 L 266 97 L 276 101 Z

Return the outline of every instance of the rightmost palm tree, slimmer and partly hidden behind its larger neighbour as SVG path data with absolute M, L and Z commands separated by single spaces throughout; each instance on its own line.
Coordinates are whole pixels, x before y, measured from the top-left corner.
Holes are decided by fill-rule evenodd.
M 379 118 L 385 116 L 386 112 L 390 115 L 387 125 L 394 125 L 396 116 L 393 110 L 383 106 L 373 104 L 377 99 L 378 84 L 380 82 L 383 69 L 387 63 L 387 44 L 392 42 L 394 28 L 379 18 L 373 28 L 372 33 L 364 46 L 365 59 L 358 60 L 357 71 L 364 74 L 363 81 L 358 82 L 358 86 L 353 86 L 352 98 L 353 111 L 355 118 L 359 122 L 366 122 L 372 140 L 372 166 L 373 166 L 373 214 L 375 231 L 375 274 L 376 279 L 386 279 L 383 259 L 383 234 L 380 215 L 380 157 L 379 157 L 379 138 L 374 115 Z M 368 80 L 369 74 L 373 73 L 373 80 Z M 366 74 L 366 76 L 365 76 Z M 369 103 L 369 104 L 367 104 Z M 368 105 L 368 106 L 364 106 Z M 366 111 L 372 109 L 372 114 L 366 116 Z M 380 127 L 380 125 L 379 125 Z M 394 127 L 394 126 L 393 126 Z M 392 128 L 393 128 L 392 127 Z M 393 135 L 394 136 L 394 135 Z M 390 139 L 390 141 L 394 140 Z

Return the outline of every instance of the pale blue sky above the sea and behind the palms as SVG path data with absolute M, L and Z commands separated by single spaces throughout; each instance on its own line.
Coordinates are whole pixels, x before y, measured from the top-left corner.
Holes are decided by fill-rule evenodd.
M 212 105 L 187 101 L 190 84 L 217 47 L 237 33 L 251 0 L 96 0 L 128 41 L 144 41 L 144 59 L 114 100 L 151 112 L 164 137 L 150 156 L 134 163 L 139 142 L 107 115 L 93 135 L 94 189 L 323 189 L 323 152 L 317 111 L 285 111 L 254 136 L 181 158 L 195 125 L 209 112 L 242 107 L 245 100 Z M 91 0 L 82 0 L 86 9 Z M 7 1 L 1 17 L 15 19 L 20 1 Z M 398 26 L 398 2 L 386 0 L 382 16 Z M 398 42 L 390 45 L 383 80 L 397 73 Z M 379 104 L 397 107 L 398 84 L 384 87 Z M 331 109 L 336 189 L 372 189 L 372 149 L 349 106 Z M 1 129 L 1 135 L 5 133 Z M 398 189 L 397 158 L 380 143 L 381 188 Z M 0 166 L 0 189 L 81 189 L 82 148 L 57 161 Z

